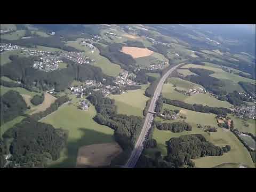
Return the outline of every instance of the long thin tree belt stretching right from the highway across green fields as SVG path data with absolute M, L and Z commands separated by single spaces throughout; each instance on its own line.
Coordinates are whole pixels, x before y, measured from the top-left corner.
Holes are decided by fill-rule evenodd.
M 230 109 L 223 108 L 223 107 L 209 107 L 203 106 L 198 104 L 189 104 L 179 100 L 171 100 L 167 98 L 163 98 L 163 102 L 169 105 L 173 105 L 176 107 L 185 108 L 188 110 L 198 111 L 201 113 L 213 113 L 213 114 L 220 114 L 220 115 L 227 115 L 227 113 L 231 113 Z

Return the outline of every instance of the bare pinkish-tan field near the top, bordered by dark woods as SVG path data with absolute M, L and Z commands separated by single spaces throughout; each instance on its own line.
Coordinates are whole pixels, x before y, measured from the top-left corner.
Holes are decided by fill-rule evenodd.
M 133 58 L 147 57 L 154 53 L 154 51 L 151 51 L 147 48 L 127 47 L 127 46 L 122 47 L 122 52 L 132 55 Z

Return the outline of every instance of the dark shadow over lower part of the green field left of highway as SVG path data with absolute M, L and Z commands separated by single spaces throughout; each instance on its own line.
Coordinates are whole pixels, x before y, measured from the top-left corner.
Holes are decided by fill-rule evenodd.
M 83 127 L 79 128 L 78 130 L 81 131 L 81 139 L 67 142 L 66 151 L 64 154 L 67 156 L 67 158 L 64 158 L 62 162 L 54 163 L 48 167 L 75 167 L 79 147 L 105 142 L 114 142 L 113 135 L 85 129 Z

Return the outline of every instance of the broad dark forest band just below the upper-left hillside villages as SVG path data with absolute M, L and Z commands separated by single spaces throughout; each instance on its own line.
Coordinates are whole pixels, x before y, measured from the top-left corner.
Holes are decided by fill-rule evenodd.
M 107 76 L 102 73 L 98 67 L 89 64 L 77 65 L 75 62 L 63 59 L 68 63 L 65 69 L 54 70 L 49 73 L 31 68 L 35 58 L 25 58 L 18 56 L 10 56 L 12 60 L 4 66 L 1 66 L 1 76 L 6 76 L 14 81 L 21 81 L 26 89 L 36 87 L 39 90 L 47 90 L 54 87 L 55 91 L 63 91 L 76 79 L 84 82 L 94 79 L 103 84 L 113 84 L 114 77 Z M 106 81 L 103 81 L 103 78 Z

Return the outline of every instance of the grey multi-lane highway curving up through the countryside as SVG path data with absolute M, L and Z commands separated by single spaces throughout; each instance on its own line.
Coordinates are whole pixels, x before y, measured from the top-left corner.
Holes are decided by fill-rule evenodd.
M 166 78 L 172 73 L 172 71 L 175 68 L 177 68 L 181 64 L 182 63 L 180 63 L 179 65 L 173 66 L 171 69 L 169 69 L 169 71 L 167 71 L 166 74 L 164 74 L 162 76 L 162 78 L 160 79 L 160 81 L 159 81 L 159 83 L 156 87 L 153 98 L 151 99 L 148 111 L 151 111 L 151 112 L 155 111 L 156 101 L 157 101 L 157 99 L 158 99 L 158 97 L 159 97 L 159 95 L 162 91 L 162 87 L 163 87 L 163 84 L 164 84 Z M 134 146 L 134 149 L 131 153 L 130 158 L 128 159 L 128 161 L 126 162 L 124 167 L 132 168 L 136 165 L 136 163 L 137 163 L 137 161 L 140 157 L 140 154 L 143 150 L 143 141 L 145 141 L 146 134 L 148 133 L 148 131 L 151 127 L 151 123 L 153 122 L 153 119 L 154 119 L 153 113 L 148 112 L 147 115 L 146 115 L 145 122 L 143 124 L 142 130 L 140 132 L 139 138 L 138 138 L 138 140 L 137 140 L 137 142 Z

